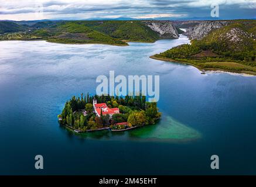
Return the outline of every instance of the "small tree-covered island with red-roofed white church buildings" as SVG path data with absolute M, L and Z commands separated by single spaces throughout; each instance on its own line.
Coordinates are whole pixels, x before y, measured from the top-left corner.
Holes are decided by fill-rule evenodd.
M 76 133 L 111 130 L 124 131 L 155 124 L 161 118 L 156 102 L 146 102 L 146 97 L 110 96 L 89 93 L 73 96 L 58 115 L 59 123 Z

